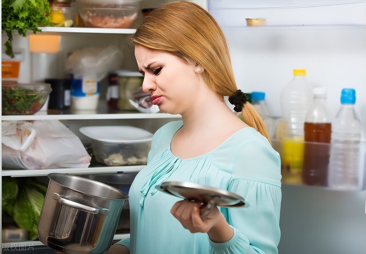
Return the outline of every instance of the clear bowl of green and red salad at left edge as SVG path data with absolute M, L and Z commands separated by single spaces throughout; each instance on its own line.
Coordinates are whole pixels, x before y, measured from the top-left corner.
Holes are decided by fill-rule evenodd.
M 1 107 L 3 115 L 33 115 L 46 102 L 41 92 L 34 92 L 23 87 L 1 87 Z

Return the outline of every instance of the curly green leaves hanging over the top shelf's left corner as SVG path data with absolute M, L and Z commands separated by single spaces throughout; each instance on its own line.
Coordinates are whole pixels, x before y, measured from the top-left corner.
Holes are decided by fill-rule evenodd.
M 27 31 L 40 32 L 38 26 L 51 26 L 51 10 L 47 0 L 1 0 L 1 32 L 6 32 L 5 53 L 14 57 L 12 40 L 14 30 L 26 37 Z

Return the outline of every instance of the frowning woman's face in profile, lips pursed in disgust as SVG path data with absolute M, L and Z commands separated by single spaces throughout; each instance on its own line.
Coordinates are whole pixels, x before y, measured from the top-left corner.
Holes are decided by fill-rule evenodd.
M 168 53 L 135 46 L 135 57 L 144 75 L 142 89 L 152 95 L 161 112 L 189 112 L 202 83 L 194 64 L 187 64 Z

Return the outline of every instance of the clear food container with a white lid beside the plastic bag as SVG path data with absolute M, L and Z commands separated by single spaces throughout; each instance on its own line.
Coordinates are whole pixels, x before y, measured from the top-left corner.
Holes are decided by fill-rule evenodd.
M 153 134 L 132 126 L 87 126 L 96 161 L 108 166 L 145 165 Z

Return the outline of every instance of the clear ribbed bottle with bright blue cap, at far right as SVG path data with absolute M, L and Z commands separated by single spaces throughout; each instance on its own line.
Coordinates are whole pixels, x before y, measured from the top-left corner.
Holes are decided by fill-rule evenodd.
M 341 107 L 332 123 L 332 146 L 329 186 L 333 189 L 356 190 L 362 187 L 360 172 L 361 123 L 355 111 L 356 91 L 341 91 Z

